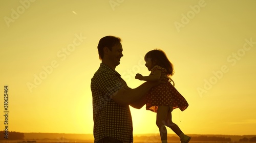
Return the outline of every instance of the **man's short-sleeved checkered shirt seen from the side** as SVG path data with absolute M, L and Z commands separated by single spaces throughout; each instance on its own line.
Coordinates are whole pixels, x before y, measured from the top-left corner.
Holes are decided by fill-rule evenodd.
M 133 142 L 133 124 L 129 106 L 120 106 L 111 99 L 119 89 L 130 88 L 118 72 L 101 63 L 91 82 L 94 142 L 107 136 L 124 143 Z

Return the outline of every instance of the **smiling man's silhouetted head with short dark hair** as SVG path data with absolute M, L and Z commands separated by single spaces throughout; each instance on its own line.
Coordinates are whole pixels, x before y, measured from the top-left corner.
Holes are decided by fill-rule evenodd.
M 113 69 L 120 64 L 122 51 L 121 39 L 118 37 L 106 36 L 99 40 L 99 59 Z

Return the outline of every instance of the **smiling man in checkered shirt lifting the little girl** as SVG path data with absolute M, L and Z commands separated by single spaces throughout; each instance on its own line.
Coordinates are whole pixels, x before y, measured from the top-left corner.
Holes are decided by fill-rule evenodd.
M 122 54 L 121 39 L 106 36 L 98 44 L 101 64 L 91 81 L 93 96 L 94 142 L 133 142 L 133 125 L 129 105 L 141 108 L 145 93 L 158 82 L 144 82 L 131 89 L 115 71 Z

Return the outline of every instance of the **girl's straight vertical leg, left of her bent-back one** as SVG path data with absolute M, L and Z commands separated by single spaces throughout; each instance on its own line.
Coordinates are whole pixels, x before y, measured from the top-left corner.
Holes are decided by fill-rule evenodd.
M 165 120 L 167 118 L 167 113 L 169 106 L 158 106 L 157 108 L 157 127 L 159 128 L 160 136 L 162 142 L 167 142 L 167 130 L 165 127 Z

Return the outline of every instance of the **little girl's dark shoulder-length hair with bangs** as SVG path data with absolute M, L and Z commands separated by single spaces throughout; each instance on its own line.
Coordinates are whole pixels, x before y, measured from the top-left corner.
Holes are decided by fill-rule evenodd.
M 174 74 L 173 64 L 168 60 L 165 52 L 160 49 L 151 50 L 146 53 L 145 61 L 151 59 L 152 67 L 160 66 L 167 70 L 167 76 L 172 76 Z

